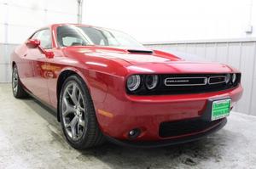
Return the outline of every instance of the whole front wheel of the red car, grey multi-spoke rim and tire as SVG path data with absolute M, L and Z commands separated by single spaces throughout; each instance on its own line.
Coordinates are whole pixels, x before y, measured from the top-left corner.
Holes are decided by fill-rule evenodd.
M 59 103 L 61 127 L 73 148 L 86 149 L 104 142 L 90 93 L 79 76 L 69 76 L 64 82 Z

